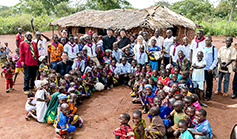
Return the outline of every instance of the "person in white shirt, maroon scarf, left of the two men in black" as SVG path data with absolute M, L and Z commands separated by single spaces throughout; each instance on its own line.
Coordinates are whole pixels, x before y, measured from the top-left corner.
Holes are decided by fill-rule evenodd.
M 92 42 L 90 36 L 86 36 L 85 40 L 86 40 L 86 45 L 84 46 L 84 48 L 87 49 L 87 55 L 90 57 L 92 61 L 96 63 L 97 66 L 99 66 L 100 62 L 97 59 L 96 45 Z

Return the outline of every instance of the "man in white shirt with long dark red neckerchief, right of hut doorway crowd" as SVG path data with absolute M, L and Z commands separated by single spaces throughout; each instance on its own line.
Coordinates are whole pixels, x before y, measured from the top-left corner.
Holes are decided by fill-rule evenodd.
M 176 61 L 178 59 L 178 52 L 181 50 L 184 52 L 184 47 L 179 43 L 178 36 L 174 37 L 174 44 L 170 47 L 170 64 L 176 66 Z

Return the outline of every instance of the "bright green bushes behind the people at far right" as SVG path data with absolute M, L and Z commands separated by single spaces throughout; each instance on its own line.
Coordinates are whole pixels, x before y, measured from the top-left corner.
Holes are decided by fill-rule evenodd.
M 237 36 L 237 23 L 234 21 L 231 21 L 230 23 L 226 20 L 211 22 L 202 21 L 200 24 L 204 27 L 203 32 L 206 35 Z

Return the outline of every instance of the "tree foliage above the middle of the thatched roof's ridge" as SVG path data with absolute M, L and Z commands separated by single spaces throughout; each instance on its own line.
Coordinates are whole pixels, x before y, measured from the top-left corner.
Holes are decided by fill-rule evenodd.
M 85 7 L 95 10 L 110 10 L 131 8 L 131 4 L 127 0 L 87 0 Z

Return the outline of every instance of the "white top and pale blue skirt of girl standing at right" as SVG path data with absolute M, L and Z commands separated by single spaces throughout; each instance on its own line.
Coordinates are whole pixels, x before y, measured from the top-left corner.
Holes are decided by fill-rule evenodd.
M 197 66 L 203 66 L 203 65 L 206 65 L 206 60 L 202 59 L 202 61 L 198 62 L 197 58 L 196 59 L 193 59 L 195 60 L 195 64 Z M 193 63 L 193 64 L 194 64 Z M 201 82 L 201 81 L 205 81 L 205 76 L 204 76 L 204 68 L 202 69 L 193 69 L 193 74 L 192 74 L 192 80 L 193 81 L 198 81 L 198 82 Z

